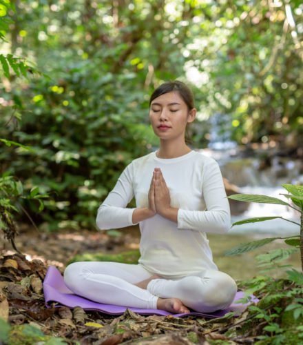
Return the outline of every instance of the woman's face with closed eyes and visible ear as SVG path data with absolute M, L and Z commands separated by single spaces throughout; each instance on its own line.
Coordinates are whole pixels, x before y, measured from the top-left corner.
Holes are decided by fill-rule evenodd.
M 151 101 L 149 119 L 155 135 L 160 139 L 184 139 L 185 128 L 194 121 L 196 109 L 188 110 L 179 92 L 171 91 Z

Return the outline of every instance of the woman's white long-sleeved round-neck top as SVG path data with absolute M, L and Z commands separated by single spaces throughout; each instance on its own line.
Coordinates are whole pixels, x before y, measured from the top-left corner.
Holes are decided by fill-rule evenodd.
M 134 225 L 135 208 L 126 206 L 133 197 L 138 208 L 148 206 L 154 168 L 163 173 L 171 207 L 178 208 L 178 224 L 158 214 L 140 221 L 139 263 L 149 272 L 171 279 L 204 269 L 218 270 L 205 233 L 227 233 L 229 202 L 218 163 L 194 150 L 171 159 L 158 158 L 156 152 L 134 159 L 98 208 L 98 228 Z

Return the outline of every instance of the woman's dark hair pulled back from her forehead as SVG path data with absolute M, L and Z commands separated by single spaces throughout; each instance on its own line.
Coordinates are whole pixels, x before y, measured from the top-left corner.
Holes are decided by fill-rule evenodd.
M 191 92 L 191 89 L 179 80 L 167 81 L 158 86 L 150 97 L 149 106 L 154 99 L 171 91 L 177 91 L 179 93 L 180 97 L 182 97 L 183 101 L 187 104 L 188 110 L 194 108 L 194 95 Z

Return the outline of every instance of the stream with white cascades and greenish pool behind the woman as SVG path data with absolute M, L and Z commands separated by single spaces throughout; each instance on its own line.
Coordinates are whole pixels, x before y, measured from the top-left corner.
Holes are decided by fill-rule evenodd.
M 224 117 L 223 117 L 224 119 Z M 229 183 L 238 187 L 239 193 L 267 195 L 288 201 L 282 194 L 287 194 L 282 184 L 303 184 L 303 162 L 290 157 L 280 157 L 278 152 L 264 150 L 259 152 L 259 157 L 269 155 L 269 159 L 245 155 L 236 143 L 225 135 L 224 140 L 216 135 L 218 124 L 213 119 L 211 124 L 213 134 L 209 148 L 199 150 L 201 154 L 213 157 L 218 161 L 222 176 Z M 267 164 L 264 164 L 264 161 Z M 231 215 L 231 222 L 253 218 L 253 217 L 283 217 L 296 223 L 300 223 L 300 213 L 289 206 L 278 204 L 248 204 L 247 210 L 239 215 Z M 229 273 L 235 279 L 247 279 L 262 274 L 262 268 L 258 267 L 255 259 L 260 254 L 268 253 L 269 250 L 278 248 L 290 248 L 283 239 L 278 239 L 271 244 L 252 250 L 240 255 L 224 256 L 224 252 L 241 243 L 255 241 L 266 237 L 287 237 L 298 235 L 300 227 L 290 221 L 283 219 L 272 219 L 253 224 L 233 226 L 227 235 L 207 234 L 213 260 L 218 268 Z M 291 255 L 289 259 L 280 264 L 290 264 L 293 268 L 302 269 L 299 253 Z M 284 270 L 269 270 L 266 275 L 281 277 L 285 275 Z

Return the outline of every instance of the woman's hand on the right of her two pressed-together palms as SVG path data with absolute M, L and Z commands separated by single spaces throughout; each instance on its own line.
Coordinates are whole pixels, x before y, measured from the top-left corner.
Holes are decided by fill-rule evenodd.
M 160 168 L 155 168 L 154 177 L 156 212 L 159 213 L 159 215 L 166 217 L 167 211 L 170 209 L 169 189 L 167 188 L 167 184 Z

